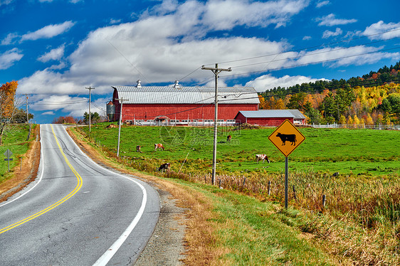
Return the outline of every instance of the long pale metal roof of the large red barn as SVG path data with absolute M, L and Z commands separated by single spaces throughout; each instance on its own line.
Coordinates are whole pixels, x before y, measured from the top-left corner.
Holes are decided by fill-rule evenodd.
M 215 87 L 112 86 L 124 104 L 212 104 Z M 219 87 L 219 104 L 259 104 L 253 87 Z

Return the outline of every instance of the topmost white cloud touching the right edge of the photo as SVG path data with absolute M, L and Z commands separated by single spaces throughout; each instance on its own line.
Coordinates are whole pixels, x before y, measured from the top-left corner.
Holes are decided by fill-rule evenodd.
M 384 21 L 378 21 L 365 28 L 362 35 L 369 36 L 371 40 L 387 40 L 389 38 L 400 37 L 400 23 L 386 24 Z

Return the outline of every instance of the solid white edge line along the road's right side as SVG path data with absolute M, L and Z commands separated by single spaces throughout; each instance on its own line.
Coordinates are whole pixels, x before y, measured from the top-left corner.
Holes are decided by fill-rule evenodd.
M 65 127 L 64 127 L 64 130 L 65 130 Z M 69 134 L 67 134 L 67 135 L 68 135 L 68 137 L 70 137 Z M 124 233 L 122 233 L 122 235 L 120 235 L 120 237 L 117 239 L 117 241 L 115 241 L 115 243 L 112 244 L 111 247 L 107 251 L 104 252 L 104 254 L 95 262 L 95 264 L 93 264 L 93 266 L 107 265 L 107 263 L 111 260 L 112 256 L 115 255 L 115 253 L 120 249 L 121 245 L 125 242 L 125 240 L 130 235 L 130 233 L 132 233 L 132 230 L 136 227 L 137 223 L 139 223 L 140 218 L 142 218 L 142 215 L 144 213 L 144 208 L 146 208 L 146 203 L 147 203 L 147 191 L 146 191 L 146 188 L 144 188 L 144 186 L 142 186 L 141 183 L 135 181 L 135 179 L 132 179 L 127 176 L 123 176 L 122 174 L 115 173 L 113 171 L 110 171 L 109 169 L 105 169 L 104 167 L 100 166 L 99 164 L 96 164 L 95 161 L 93 161 L 87 154 L 85 154 L 82 151 L 82 149 L 80 149 L 80 147 L 78 147 L 78 144 L 76 144 L 71 137 L 70 137 L 70 139 L 75 144 L 75 146 L 80 150 L 80 152 L 83 154 L 83 156 L 85 156 L 90 161 L 92 161 L 93 164 L 95 164 L 96 166 L 100 167 L 101 169 L 103 169 L 105 171 L 108 171 L 111 174 L 121 176 L 124 179 L 128 179 L 132 182 L 135 182 L 137 184 L 137 186 L 139 186 L 140 189 L 142 189 L 142 193 L 143 193 L 142 206 L 140 206 L 140 209 L 137 212 L 135 218 L 132 220 L 132 223 L 130 223 L 130 225 L 127 227 L 127 229 L 125 229 Z

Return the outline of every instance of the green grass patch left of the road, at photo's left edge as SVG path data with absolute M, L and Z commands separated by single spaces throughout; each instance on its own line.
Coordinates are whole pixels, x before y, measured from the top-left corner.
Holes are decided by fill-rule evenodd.
M 36 125 L 33 125 L 33 129 Z M 33 130 L 32 129 L 32 130 Z M 0 155 L 2 157 L 0 164 L 0 183 L 10 179 L 13 176 L 11 169 L 21 163 L 21 156 L 26 154 L 29 147 L 29 141 L 26 141 L 26 137 L 28 136 L 29 125 L 28 124 L 11 124 L 9 128 L 4 132 L 3 135 L 3 145 L 0 146 Z M 33 138 L 32 136 L 31 138 Z M 13 161 L 10 161 L 10 172 L 9 166 L 4 156 L 6 150 L 9 149 L 13 155 L 10 157 Z

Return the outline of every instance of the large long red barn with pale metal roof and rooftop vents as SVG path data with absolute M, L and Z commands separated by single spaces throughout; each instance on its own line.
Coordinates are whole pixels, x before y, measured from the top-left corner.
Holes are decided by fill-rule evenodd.
M 112 86 L 115 119 L 122 121 L 214 121 L 215 87 Z M 260 101 L 253 87 L 219 87 L 218 119 L 233 120 L 239 111 L 258 110 Z

